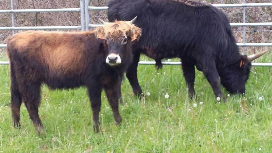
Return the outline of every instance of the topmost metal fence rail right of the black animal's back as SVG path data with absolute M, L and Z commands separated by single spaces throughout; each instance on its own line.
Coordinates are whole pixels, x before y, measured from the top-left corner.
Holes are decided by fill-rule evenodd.
M 215 7 L 259 7 L 259 6 L 272 6 L 272 3 L 244 3 L 244 4 L 212 4 Z

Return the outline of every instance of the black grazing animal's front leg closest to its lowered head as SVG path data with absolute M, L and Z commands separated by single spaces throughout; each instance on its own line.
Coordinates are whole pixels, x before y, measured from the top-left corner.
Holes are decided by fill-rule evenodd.
M 223 95 L 221 91 L 221 83 L 220 83 L 220 78 L 219 74 L 217 72 L 216 66 L 215 66 L 215 61 L 210 61 L 209 64 L 203 65 L 203 74 L 209 81 L 214 93 L 215 97 L 219 97 L 220 99 L 223 98 L 223 101 L 226 101 L 226 97 Z M 220 100 L 219 100 L 220 102 Z

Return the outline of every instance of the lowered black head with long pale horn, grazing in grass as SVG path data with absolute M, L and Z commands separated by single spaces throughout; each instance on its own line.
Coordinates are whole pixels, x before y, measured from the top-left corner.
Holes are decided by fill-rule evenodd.
M 249 78 L 251 69 L 251 62 L 256 58 L 262 56 L 267 51 L 253 54 L 253 55 L 240 55 L 240 60 L 236 63 L 229 65 L 223 69 L 219 69 L 222 85 L 232 94 L 245 93 L 245 83 Z

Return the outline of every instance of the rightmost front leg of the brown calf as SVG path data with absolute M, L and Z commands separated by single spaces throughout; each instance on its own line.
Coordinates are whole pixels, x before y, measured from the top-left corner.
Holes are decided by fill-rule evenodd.
M 113 87 L 105 89 L 105 92 L 108 98 L 108 102 L 113 110 L 115 122 L 117 125 L 120 125 L 120 123 L 122 122 L 122 118 L 118 111 L 118 91 L 116 90 L 116 87 Z

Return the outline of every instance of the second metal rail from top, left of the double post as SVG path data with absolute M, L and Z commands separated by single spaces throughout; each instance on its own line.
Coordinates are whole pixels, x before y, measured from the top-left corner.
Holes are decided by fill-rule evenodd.
M 81 26 L 0 27 L 0 30 L 64 30 L 81 29 Z

